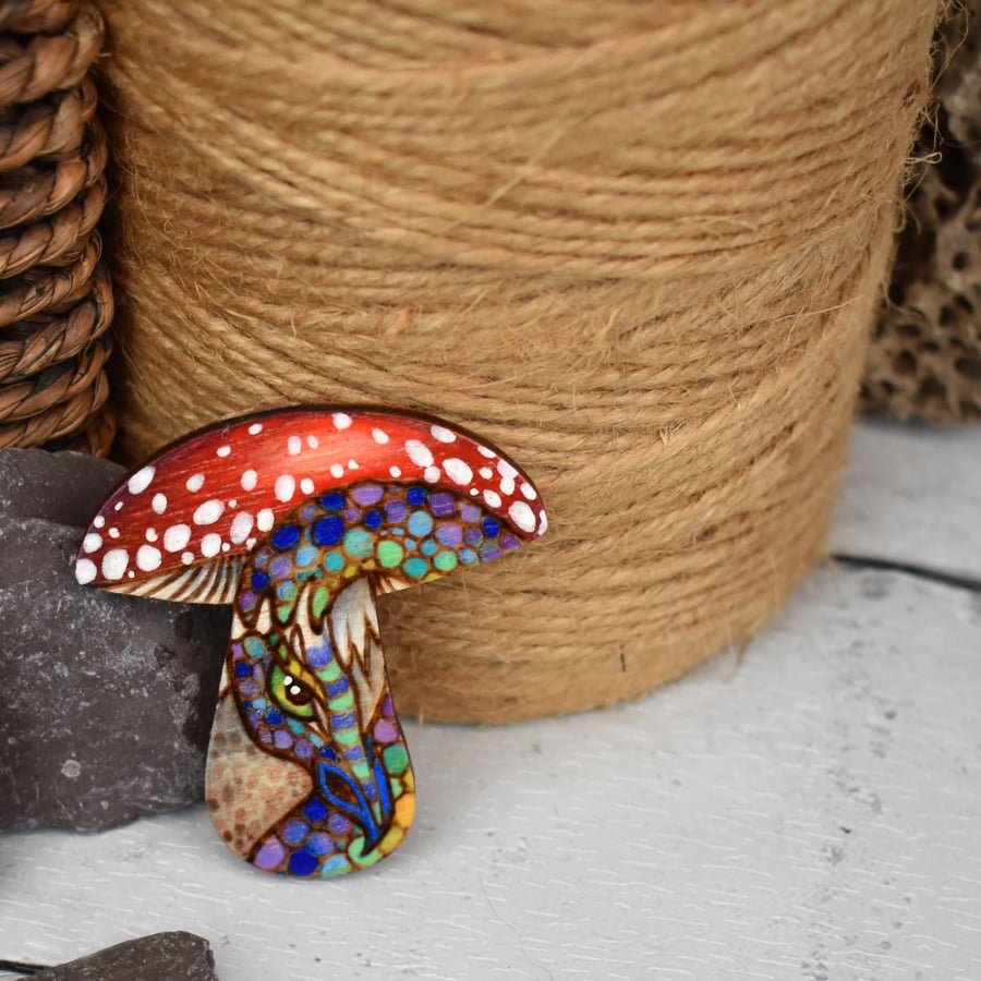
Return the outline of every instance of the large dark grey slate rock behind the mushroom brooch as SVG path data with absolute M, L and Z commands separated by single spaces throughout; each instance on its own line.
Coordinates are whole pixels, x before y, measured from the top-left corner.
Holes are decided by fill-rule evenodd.
M 0 828 L 97 831 L 204 796 L 230 614 L 75 582 L 119 475 L 0 450 Z

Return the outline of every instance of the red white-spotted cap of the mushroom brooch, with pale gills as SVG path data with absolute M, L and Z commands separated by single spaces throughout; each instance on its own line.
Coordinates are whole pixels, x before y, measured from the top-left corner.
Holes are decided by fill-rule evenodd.
M 284 514 L 367 480 L 467 494 L 524 541 L 547 528 L 531 481 L 473 436 L 382 410 L 299 407 L 199 429 L 131 473 L 88 528 L 75 576 L 158 598 L 230 603 L 244 556 Z M 189 579 L 193 567 L 201 574 Z M 179 593 L 168 589 L 175 578 Z

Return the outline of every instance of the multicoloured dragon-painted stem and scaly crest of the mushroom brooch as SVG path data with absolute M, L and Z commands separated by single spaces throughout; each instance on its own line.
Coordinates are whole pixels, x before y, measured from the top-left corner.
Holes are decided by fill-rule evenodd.
M 354 484 L 304 501 L 249 555 L 211 740 L 207 797 L 239 855 L 293 875 L 337 875 L 393 850 L 414 812 L 375 611 L 378 592 L 493 559 L 518 540 L 472 499 L 425 485 Z M 223 765 L 240 727 L 264 754 L 305 771 L 306 796 L 265 792 L 266 826 L 237 835 L 238 779 Z M 258 760 L 254 768 L 265 770 Z M 255 779 L 246 767 L 245 778 Z

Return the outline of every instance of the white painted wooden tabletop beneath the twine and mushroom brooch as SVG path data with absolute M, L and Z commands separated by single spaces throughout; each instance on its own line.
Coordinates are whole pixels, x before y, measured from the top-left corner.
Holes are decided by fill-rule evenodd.
M 832 548 L 981 580 L 981 428 L 862 424 Z M 275 880 L 203 807 L 0 837 L 0 956 L 160 930 L 253 979 L 981 979 L 981 593 L 826 566 L 638 704 L 411 727 L 412 838 Z

